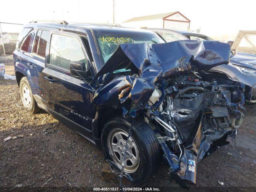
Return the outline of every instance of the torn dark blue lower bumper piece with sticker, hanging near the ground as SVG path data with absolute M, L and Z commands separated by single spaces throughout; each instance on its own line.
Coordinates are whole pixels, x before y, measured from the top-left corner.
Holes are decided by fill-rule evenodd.
M 229 144 L 226 141 L 226 137 L 236 134 L 236 131 L 227 131 L 218 132 L 212 136 L 205 136 L 201 123 L 192 145 L 182 151 L 180 158 L 170 151 L 165 142 L 160 141 L 164 151 L 163 157 L 167 160 L 171 172 L 177 174 L 182 180 L 192 184 L 196 184 L 197 167 L 204 156 L 210 155 L 217 148 Z

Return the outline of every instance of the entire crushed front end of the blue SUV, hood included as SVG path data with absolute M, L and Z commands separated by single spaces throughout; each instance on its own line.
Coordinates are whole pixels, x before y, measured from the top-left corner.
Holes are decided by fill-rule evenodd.
M 229 55 L 229 45 L 215 41 L 121 44 L 94 77 L 105 78 L 96 107 L 143 117 L 171 172 L 196 184 L 200 160 L 226 144 L 244 118 L 244 84 L 206 72 L 228 64 Z M 123 68 L 130 75 L 110 78 Z

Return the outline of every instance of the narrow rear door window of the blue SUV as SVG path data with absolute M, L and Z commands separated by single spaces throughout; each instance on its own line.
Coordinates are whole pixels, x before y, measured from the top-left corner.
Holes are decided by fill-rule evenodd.
M 38 30 L 34 42 L 33 53 L 45 58 L 46 45 L 50 39 L 50 32 L 47 30 Z

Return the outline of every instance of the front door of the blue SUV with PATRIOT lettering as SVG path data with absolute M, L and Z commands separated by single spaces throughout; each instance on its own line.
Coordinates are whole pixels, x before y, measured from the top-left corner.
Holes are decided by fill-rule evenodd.
M 94 88 L 86 78 L 70 76 L 70 61 L 84 62 L 88 78 L 91 78 L 91 63 L 80 36 L 72 33 L 52 33 L 48 60 L 43 70 L 47 108 L 56 118 L 87 138 L 92 138 Z

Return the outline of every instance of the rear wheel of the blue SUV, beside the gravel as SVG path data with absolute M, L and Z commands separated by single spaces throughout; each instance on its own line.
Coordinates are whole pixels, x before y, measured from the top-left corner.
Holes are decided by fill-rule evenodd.
M 24 108 L 29 113 L 32 114 L 40 111 L 40 108 L 38 107 L 36 100 L 33 97 L 31 88 L 28 84 L 28 80 L 26 77 L 23 77 L 20 80 L 20 98 Z

